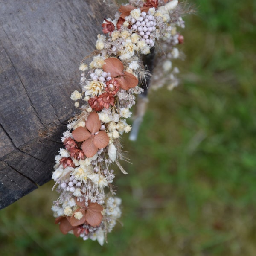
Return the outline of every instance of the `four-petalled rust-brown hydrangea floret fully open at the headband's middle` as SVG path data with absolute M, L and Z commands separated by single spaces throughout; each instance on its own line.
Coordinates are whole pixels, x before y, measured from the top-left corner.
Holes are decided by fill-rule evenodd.
M 88 116 L 85 127 L 79 126 L 72 135 L 76 141 L 83 141 L 81 149 L 86 157 L 92 157 L 99 148 L 105 148 L 108 145 L 109 137 L 105 131 L 99 131 L 101 123 L 95 111 Z

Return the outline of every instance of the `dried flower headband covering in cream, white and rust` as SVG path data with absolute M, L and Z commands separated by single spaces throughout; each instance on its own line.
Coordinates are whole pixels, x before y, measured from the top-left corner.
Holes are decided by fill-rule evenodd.
M 52 179 L 60 196 L 52 211 L 62 233 L 102 245 L 120 217 L 112 167 L 116 163 L 126 174 L 119 163 L 120 137 L 131 131 L 126 119 L 136 95 L 143 92 L 139 83 L 146 71 L 140 57 L 159 44 L 171 44 L 172 51 L 166 50 L 167 59 L 160 62 L 163 71 L 174 76 L 177 70 L 170 59 L 179 56 L 176 26 L 183 26 L 177 0 L 130 0 L 113 20 L 102 23 L 104 35 L 98 35 L 96 54 L 79 67 L 81 90 L 71 95 L 76 107 L 81 99 L 82 111 L 70 119 L 61 138 L 64 148 L 55 157 Z

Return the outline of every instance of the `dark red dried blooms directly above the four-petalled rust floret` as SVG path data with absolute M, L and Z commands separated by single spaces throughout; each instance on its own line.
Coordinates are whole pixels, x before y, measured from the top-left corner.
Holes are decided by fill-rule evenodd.
M 95 111 L 101 111 L 103 108 L 108 109 L 109 105 L 113 106 L 115 104 L 115 98 L 112 94 L 102 93 L 99 97 L 94 96 L 89 99 L 88 103 Z

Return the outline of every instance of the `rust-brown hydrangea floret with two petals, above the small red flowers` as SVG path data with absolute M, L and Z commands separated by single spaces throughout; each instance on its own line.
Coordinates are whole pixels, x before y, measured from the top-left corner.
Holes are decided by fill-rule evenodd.
M 103 65 L 103 70 L 109 72 L 112 77 L 120 84 L 120 87 L 125 90 L 134 88 L 139 80 L 133 74 L 124 71 L 124 65 L 122 61 L 117 58 L 107 58 L 105 59 L 105 64 Z

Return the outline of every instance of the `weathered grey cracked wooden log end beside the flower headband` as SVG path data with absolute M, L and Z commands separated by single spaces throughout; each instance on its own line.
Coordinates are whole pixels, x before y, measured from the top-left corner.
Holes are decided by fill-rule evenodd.
M 0 209 L 50 180 L 101 0 L 0 1 Z

